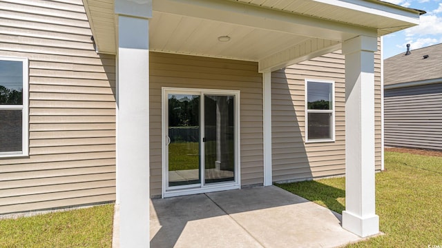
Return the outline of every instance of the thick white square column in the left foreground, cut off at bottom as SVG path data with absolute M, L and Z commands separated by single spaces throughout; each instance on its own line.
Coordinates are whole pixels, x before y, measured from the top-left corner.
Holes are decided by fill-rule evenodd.
M 118 16 L 119 247 L 149 247 L 150 242 L 148 42 L 146 17 Z

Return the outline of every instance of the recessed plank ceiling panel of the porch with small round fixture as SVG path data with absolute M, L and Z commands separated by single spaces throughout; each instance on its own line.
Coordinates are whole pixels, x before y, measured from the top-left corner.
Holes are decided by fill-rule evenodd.
M 229 36 L 231 39 L 227 42 L 218 41 L 221 36 Z M 294 34 L 155 11 L 149 24 L 149 37 L 151 51 L 247 61 L 258 61 L 309 39 Z

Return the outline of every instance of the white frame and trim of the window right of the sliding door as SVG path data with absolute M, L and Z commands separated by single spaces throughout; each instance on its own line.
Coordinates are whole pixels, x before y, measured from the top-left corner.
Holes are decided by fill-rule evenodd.
M 332 110 L 308 110 L 307 106 L 307 84 L 308 82 L 317 83 L 331 83 L 332 84 Z M 320 142 L 334 142 L 335 141 L 335 92 L 334 92 L 334 81 L 331 80 L 320 80 L 320 79 L 305 79 L 305 143 L 320 143 Z M 309 141 L 309 113 L 332 113 L 332 138 L 324 139 L 314 139 Z

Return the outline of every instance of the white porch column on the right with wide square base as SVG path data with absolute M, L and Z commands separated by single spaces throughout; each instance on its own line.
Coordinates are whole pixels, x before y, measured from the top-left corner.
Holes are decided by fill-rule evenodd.
M 345 211 L 343 228 L 379 232 L 374 194 L 374 52 L 376 37 L 343 43 L 345 54 Z

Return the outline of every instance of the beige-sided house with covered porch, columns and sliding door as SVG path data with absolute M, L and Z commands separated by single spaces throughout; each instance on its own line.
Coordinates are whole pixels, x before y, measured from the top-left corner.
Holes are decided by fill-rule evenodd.
M 115 200 L 120 245 L 144 247 L 151 196 L 345 174 L 343 227 L 378 233 L 378 38 L 423 12 L 280 0 L 0 9 L 0 214 Z

